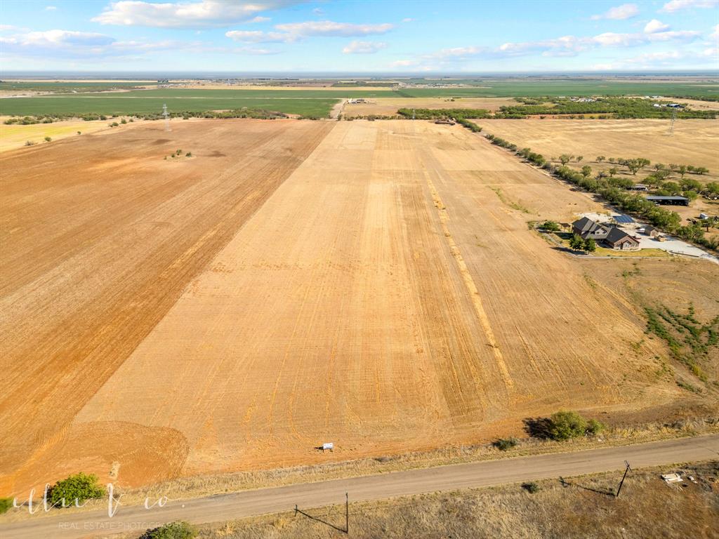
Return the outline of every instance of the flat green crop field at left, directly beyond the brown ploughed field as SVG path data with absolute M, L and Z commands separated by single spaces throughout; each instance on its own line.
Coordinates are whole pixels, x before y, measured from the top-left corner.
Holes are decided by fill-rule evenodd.
M 177 94 L 157 95 L 155 91 L 116 93 L 101 96 L 37 96 L 29 98 L 0 99 L 0 114 L 11 116 L 34 116 L 42 114 L 149 114 L 160 113 L 167 103 L 168 111 L 202 112 L 229 109 L 267 109 L 285 114 L 303 116 L 327 116 L 337 102 L 333 98 L 260 98 L 260 97 L 203 97 L 204 91 L 191 91 L 198 96 L 178 97 Z M 211 92 L 211 91 L 207 91 Z M 139 95 L 133 95 L 139 94 Z M 154 94 L 154 95 L 152 95 Z

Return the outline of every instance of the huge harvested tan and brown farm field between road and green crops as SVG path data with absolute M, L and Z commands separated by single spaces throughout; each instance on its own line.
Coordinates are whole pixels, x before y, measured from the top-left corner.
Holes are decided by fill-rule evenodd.
M 180 148 L 193 157 L 163 159 Z M 667 349 L 631 294 L 527 226 L 602 206 L 461 126 L 147 123 L 6 152 L 0 170 L 0 492 L 697 402 L 656 376 Z M 713 271 L 686 296 L 709 312 Z

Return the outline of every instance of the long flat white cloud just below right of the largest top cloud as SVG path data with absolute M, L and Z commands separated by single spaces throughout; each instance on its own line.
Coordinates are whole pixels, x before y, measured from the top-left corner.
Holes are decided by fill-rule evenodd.
M 348 22 L 308 21 L 275 24 L 278 32 L 230 30 L 225 35 L 232 40 L 248 43 L 291 43 L 306 37 L 360 37 L 384 34 L 392 24 L 350 24 Z

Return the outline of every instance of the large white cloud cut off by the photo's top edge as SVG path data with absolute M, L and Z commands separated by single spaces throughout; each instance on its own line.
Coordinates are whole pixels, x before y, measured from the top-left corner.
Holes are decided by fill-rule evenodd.
M 141 0 L 120 0 L 94 17 L 100 24 L 147 26 L 160 28 L 221 27 L 248 22 L 262 11 L 278 9 L 295 2 L 290 0 L 167 2 L 154 4 Z

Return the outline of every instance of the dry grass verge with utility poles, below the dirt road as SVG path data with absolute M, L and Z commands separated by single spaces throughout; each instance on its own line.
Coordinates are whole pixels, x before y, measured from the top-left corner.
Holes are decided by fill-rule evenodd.
M 697 482 L 669 487 L 659 474 L 685 471 Z M 520 485 L 464 489 L 357 502 L 349 507 L 353 538 L 716 538 L 719 462 L 635 470 L 614 497 L 620 472 Z M 201 539 L 321 539 L 341 536 L 344 505 L 205 526 Z

